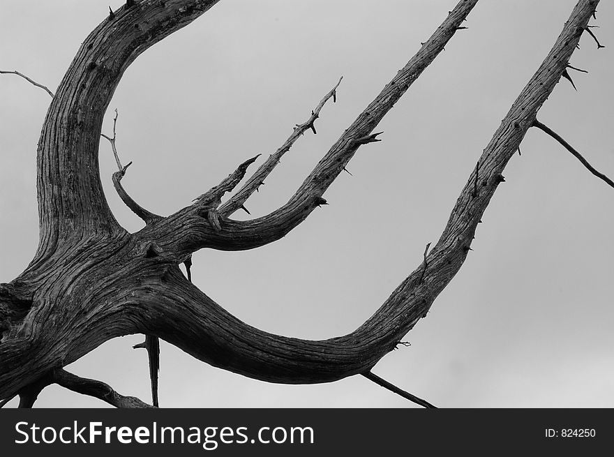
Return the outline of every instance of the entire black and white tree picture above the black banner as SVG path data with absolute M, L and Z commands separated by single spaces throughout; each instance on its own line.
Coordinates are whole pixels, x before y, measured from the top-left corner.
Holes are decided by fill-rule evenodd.
M 613 49 L 599 0 L 2 0 L 1 406 L 614 407 Z

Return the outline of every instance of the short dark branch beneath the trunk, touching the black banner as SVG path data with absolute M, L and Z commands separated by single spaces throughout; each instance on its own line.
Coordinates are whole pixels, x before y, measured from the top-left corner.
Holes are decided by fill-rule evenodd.
M 144 403 L 136 397 L 123 396 L 114 391 L 104 382 L 79 377 L 60 369 L 55 370 L 53 380 L 56 384 L 79 394 L 100 398 L 114 407 L 121 408 L 151 408 L 153 406 Z

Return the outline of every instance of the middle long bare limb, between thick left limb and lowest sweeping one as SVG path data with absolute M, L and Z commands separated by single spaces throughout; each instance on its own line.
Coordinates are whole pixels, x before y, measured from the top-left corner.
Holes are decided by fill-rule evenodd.
M 160 245 L 169 246 L 179 258 L 201 248 L 220 250 L 244 250 L 257 248 L 276 241 L 305 220 L 320 206 L 322 194 L 345 169 L 362 144 L 379 141 L 373 129 L 381 121 L 403 93 L 417 80 L 419 75 L 442 52 L 444 46 L 454 36 L 458 27 L 476 5 L 477 0 L 464 0 L 451 10 L 432 36 L 422 45 L 417 54 L 398 71 L 379 95 L 359 114 L 359 117 L 343 132 L 341 137 L 320 160 L 294 196 L 282 207 L 261 218 L 236 221 L 223 219 L 210 221 L 208 215 L 184 208 L 169 216 L 156 226 Z M 253 181 L 251 184 L 262 181 Z M 225 209 L 228 211 L 230 206 Z M 220 216 L 223 216 L 220 213 Z M 203 216 L 207 216 L 204 218 Z M 209 222 L 208 222 L 209 220 Z M 182 233 L 178 230 L 181 227 Z M 213 230 L 212 230 L 213 229 Z M 149 230 L 141 232 L 151 236 Z M 189 236 L 184 236 L 188 233 Z

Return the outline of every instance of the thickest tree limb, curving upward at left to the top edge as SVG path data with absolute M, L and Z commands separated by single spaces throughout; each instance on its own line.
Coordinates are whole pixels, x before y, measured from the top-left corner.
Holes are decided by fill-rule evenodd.
M 107 106 L 123 72 L 139 54 L 217 2 L 141 1 L 115 11 L 84 40 L 59 84 L 40 135 L 40 243 L 34 265 L 47 261 L 58 244 L 123 232 L 100 183 L 98 138 Z

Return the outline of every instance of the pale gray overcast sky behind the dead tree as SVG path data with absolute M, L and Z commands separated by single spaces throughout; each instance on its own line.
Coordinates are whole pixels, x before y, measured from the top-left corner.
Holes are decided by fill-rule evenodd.
M 0 68 L 52 89 L 108 0 L 3 0 Z M 575 0 L 485 0 L 380 123 L 325 197 L 329 206 L 284 239 L 243 253 L 200 251 L 193 279 L 221 306 L 261 329 L 301 338 L 358 327 L 437 241 L 458 193 L 509 106 L 553 45 Z M 120 1 L 112 3 L 119 7 Z M 133 160 L 123 183 L 142 206 L 170 214 L 256 153 L 267 156 L 335 84 L 317 135 L 306 133 L 246 206 L 283 204 L 455 0 L 224 0 L 145 52 L 126 71 L 117 147 Z M 614 177 L 614 4 L 571 63 L 539 119 Z M 36 144 L 50 98 L 0 78 L 0 280 L 17 276 L 38 244 Z M 614 407 L 614 190 L 550 137 L 530 130 L 504 173 L 465 265 L 374 373 L 443 407 Z M 260 162 L 262 162 L 262 158 Z M 107 200 L 130 231 L 142 227 L 111 183 Z M 370 215 L 370 216 L 367 216 Z M 375 216 L 373 216 L 375 215 Z M 237 213 L 235 217 L 244 218 Z M 112 340 L 68 367 L 150 400 L 147 356 Z M 405 407 L 362 377 L 284 386 L 250 380 L 162 342 L 160 405 L 167 407 Z M 15 400 L 13 400 L 13 403 Z M 11 404 L 13 404 L 11 403 Z M 102 407 L 57 387 L 40 407 Z

